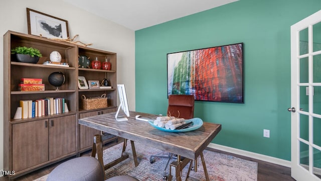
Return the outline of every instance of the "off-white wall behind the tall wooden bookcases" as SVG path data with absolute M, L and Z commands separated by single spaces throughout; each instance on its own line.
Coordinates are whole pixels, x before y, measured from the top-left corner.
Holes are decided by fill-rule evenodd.
M 69 35 L 93 43 L 91 48 L 117 53 L 117 83 L 126 85 L 130 110 L 135 110 L 135 33 L 134 31 L 78 9 L 62 0 L 0 1 L 0 62 L 4 61 L 3 35 L 8 31 L 28 34 L 26 8 L 68 21 Z M 3 82 L 3 66 L 0 66 Z M 3 84 L 0 84 L 0 115 L 3 115 Z M 3 116 L 0 117 L 0 170 L 4 168 Z M 8 120 L 6 120 L 8 121 Z M 0 172 L 0 175 L 2 172 Z

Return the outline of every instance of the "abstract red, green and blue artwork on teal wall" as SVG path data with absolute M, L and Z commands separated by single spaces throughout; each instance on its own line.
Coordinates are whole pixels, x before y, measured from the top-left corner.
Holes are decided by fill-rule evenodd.
M 167 54 L 168 95 L 244 103 L 243 43 Z

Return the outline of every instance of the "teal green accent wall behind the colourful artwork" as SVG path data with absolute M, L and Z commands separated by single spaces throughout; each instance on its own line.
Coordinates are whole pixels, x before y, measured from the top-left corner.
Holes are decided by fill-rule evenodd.
M 240 0 L 136 31 L 136 111 L 166 114 L 167 53 L 243 42 L 244 104 L 196 101 L 195 116 L 222 124 L 213 143 L 290 160 L 290 26 L 320 7 Z

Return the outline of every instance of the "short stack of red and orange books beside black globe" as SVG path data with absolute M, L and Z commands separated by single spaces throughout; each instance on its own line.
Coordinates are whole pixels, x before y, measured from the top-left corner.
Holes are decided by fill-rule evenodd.
M 19 91 L 44 91 L 45 84 L 42 79 L 21 78 L 19 84 Z

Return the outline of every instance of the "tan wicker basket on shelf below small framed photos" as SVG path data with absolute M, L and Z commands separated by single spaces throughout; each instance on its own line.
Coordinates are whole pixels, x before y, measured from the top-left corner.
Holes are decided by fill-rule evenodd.
M 100 97 L 86 98 L 85 95 L 81 95 L 82 108 L 85 110 L 99 109 L 107 107 L 106 94 L 102 94 Z

